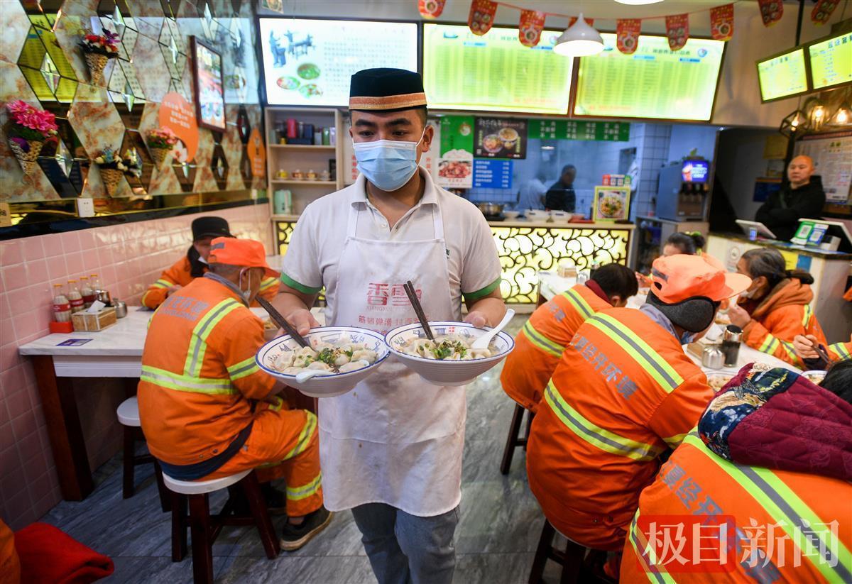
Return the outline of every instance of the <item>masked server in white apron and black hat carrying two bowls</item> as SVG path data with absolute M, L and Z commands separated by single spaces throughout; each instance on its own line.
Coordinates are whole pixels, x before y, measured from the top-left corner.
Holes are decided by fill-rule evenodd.
M 325 288 L 330 326 L 385 332 L 417 322 L 411 280 L 429 320 L 477 326 L 503 318 L 500 262 L 479 209 L 417 166 L 434 130 L 418 73 L 352 76 L 350 135 L 360 176 L 310 203 L 296 224 L 279 311 L 306 334 Z M 337 398 L 320 399 L 325 505 L 352 509 L 380 583 L 451 582 L 461 498 L 463 387 L 423 381 L 393 357 Z

